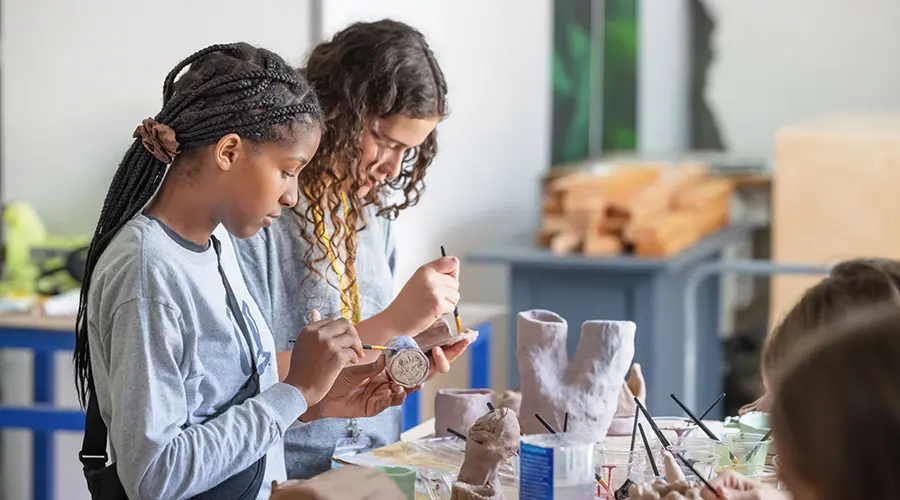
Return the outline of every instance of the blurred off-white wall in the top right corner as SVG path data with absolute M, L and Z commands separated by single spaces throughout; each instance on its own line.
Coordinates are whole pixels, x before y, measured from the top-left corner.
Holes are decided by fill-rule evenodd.
M 731 149 L 769 155 L 778 127 L 826 112 L 900 110 L 900 2 L 704 1 L 707 96 Z

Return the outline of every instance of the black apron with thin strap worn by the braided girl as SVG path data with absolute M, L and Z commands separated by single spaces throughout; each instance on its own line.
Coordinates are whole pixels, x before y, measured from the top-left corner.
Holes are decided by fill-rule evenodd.
M 250 378 L 247 379 L 238 393 L 216 413 L 205 419 L 204 423 L 218 417 L 228 408 L 239 405 L 259 394 L 259 371 L 256 366 L 256 354 L 253 351 L 253 339 L 250 337 L 250 331 L 247 328 L 247 323 L 244 320 L 237 298 L 234 296 L 234 291 L 231 289 L 231 284 L 225 276 L 225 270 L 222 269 L 221 244 L 215 236 L 210 238 L 219 261 L 219 274 L 222 276 L 222 283 L 225 285 L 228 308 L 231 309 L 231 314 L 238 322 L 244 340 L 247 342 L 247 347 L 250 349 L 252 372 L 250 373 Z M 91 389 L 91 397 L 88 400 L 84 425 L 84 441 L 81 452 L 78 454 L 78 459 L 84 466 L 84 477 L 87 480 L 88 490 L 93 500 L 125 500 L 128 498 L 128 495 L 125 494 L 125 489 L 119 480 L 116 464 L 106 465 L 106 462 L 109 460 L 109 455 L 106 453 L 106 424 L 103 423 L 103 418 L 100 416 L 100 407 L 97 405 L 93 380 L 89 380 L 88 384 Z M 265 473 L 266 456 L 263 455 L 250 467 L 193 498 L 195 500 L 255 500 L 262 487 Z

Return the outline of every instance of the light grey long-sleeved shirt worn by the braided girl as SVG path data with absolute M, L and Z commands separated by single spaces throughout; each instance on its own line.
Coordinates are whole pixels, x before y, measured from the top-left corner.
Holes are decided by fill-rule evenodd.
M 209 490 L 266 455 L 259 499 L 285 479 L 283 436 L 306 411 L 278 383 L 275 345 L 250 297 L 224 228 L 222 266 L 251 335 L 255 360 L 226 304 L 215 250 L 138 215 L 103 252 L 88 297 L 94 385 L 119 478 L 132 499 Z M 257 364 L 261 393 L 202 423 Z

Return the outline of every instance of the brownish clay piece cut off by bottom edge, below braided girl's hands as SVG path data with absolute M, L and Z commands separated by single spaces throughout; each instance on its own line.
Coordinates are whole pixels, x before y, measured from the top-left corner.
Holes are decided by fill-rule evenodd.
M 386 475 L 367 467 L 344 465 L 312 479 L 272 481 L 271 500 L 405 500 Z

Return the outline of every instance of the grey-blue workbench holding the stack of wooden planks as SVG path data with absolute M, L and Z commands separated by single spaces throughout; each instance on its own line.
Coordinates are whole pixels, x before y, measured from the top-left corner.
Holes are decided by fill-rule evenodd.
M 744 241 L 750 230 L 726 228 L 665 259 L 556 256 L 525 240 L 468 255 L 469 262 L 501 264 L 509 269 L 509 387 L 516 387 L 519 381 L 513 333 L 519 311 L 548 309 L 565 318 L 570 356 L 578 345 L 583 322 L 630 320 L 637 323 L 634 360 L 643 369 L 650 411 L 681 415 L 669 394 L 682 394 L 685 387 L 683 298 L 688 279 L 698 266 L 720 260 L 723 250 Z M 718 280 L 706 280 L 697 287 L 696 312 L 697 370 L 692 395 L 697 405 L 705 407 L 722 393 Z

